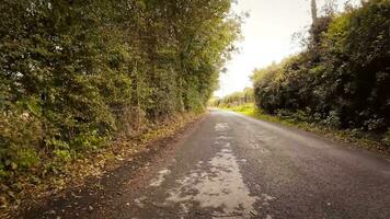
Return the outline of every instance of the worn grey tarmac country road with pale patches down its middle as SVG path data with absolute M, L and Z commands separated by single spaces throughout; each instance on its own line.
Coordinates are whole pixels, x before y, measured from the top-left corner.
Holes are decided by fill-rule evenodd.
M 390 218 L 385 158 L 229 112 L 144 172 L 82 218 Z

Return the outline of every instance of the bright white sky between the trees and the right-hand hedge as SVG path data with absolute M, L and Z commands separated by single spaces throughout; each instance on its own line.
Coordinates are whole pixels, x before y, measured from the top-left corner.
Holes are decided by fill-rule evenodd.
M 318 0 L 319 10 L 324 1 Z M 339 0 L 339 5 L 345 1 Z M 238 0 L 234 11 L 249 12 L 250 18 L 242 24 L 244 39 L 238 43 L 240 53 L 220 76 L 220 89 L 215 92 L 219 97 L 252 87 L 253 69 L 299 51 L 291 35 L 311 24 L 310 0 Z

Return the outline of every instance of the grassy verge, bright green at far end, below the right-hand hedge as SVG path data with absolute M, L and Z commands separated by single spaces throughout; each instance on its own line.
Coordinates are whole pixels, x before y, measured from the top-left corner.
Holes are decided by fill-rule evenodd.
M 283 117 L 278 115 L 268 115 L 262 112 L 261 110 L 257 110 L 255 105 L 252 103 L 233 106 L 233 107 L 223 107 L 223 110 L 240 113 L 256 119 L 262 119 L 275 124 L 282 124 L 287 127 L 295 127 L 305 131 L 311 131 L 314 134 L 325 136 L 333 140 L 352 143 L 369 150 L 380 151 L 381 153 L 390 155 L 390 147 L 381 142 L 381 139 L 374 134 L 348 130 L 348 129 L 340 130 L 316 123 L 308 123 L 297 118 Z

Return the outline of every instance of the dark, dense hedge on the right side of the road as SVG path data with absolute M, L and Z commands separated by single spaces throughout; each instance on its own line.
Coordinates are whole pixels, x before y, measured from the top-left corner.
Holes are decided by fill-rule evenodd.
M 307 49 L 252 77 L 266 113 L 303 112 L 336 128 L 383 134 L 390 126 L 390 2 L 320 18 Z

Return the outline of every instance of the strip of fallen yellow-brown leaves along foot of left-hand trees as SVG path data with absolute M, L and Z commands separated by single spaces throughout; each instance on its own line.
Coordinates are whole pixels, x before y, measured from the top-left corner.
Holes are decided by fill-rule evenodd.
M 18 211 L 48 196 L 60 194 L 67 187 L 80 186 L 90 176 L 99 177 L 104 172 L 114 170 L 124 161 L 147 150 L 151 142 L 179 134 L 202 116 L 203 114 L 177 115 L 150 125 L 138 136 L 124 138 L 106 148 L 66 163 L 56 163 L 60 170 L 55 173 L 45 174 L 39 170 L 19 176 L 18 183 L 12 185 L 0 182 L 0 218 L 9 218 L 12 211 Z M 37 172 L 39 174 L 36 174 Z

